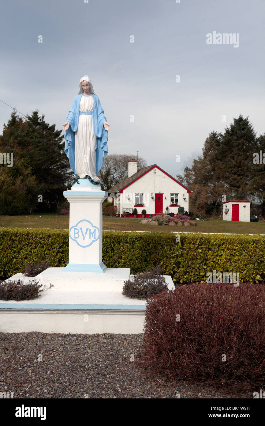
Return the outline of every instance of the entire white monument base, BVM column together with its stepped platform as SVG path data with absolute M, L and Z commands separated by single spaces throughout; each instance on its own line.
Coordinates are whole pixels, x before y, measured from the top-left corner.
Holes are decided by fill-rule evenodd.
M 102 203 L 107 197 L 88 179 L 64 196 L 70 203 L 69 263 L 35 277 L 54 287 L 32 300 L 0 300 L 0 331 L 43 333 L 142 333 L 145 300 L 122 295 L 130 268 L 106 268 L 102 262 Z M 9 278 L 32 279 L 23 274 Z M 171 276 L 165 276 L 174 290 Z

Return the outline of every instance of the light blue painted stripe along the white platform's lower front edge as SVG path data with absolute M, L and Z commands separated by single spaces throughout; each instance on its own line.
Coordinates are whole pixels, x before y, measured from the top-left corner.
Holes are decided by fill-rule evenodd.
M 145 311 L 145 305 L 69 305 L 69 304 L 40 304 L 40 303 L 0 303 L 0 309 L 103 309 L 103 310 L 129 310 Z

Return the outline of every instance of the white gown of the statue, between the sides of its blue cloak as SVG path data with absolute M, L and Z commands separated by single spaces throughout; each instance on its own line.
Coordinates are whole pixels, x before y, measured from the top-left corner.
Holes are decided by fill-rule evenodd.
M 92 95 L 82 95 L 80 101 L 80 112 L 92 112 L 94 100 Z M 96 148 L 97 138 L 94 133 L 92 115 L 82 114 L 79 116 L 78 128 L 75 132 L 75 172 L 80 178 L 85 175 L 94 180 L 96 174 Z

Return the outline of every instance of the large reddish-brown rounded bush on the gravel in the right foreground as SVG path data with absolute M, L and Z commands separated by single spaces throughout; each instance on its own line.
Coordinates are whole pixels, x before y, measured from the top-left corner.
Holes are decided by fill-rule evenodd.
M 191 284 L 150 296 L 140 360 L 171 378 L 264 385 L 265 286 Z

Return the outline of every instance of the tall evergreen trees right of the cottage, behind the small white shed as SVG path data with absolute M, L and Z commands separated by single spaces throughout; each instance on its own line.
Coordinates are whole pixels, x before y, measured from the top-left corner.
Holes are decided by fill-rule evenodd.
M 234 118 L 224 134 L 211 132 L 202 148 L 202 156 L 177 176 L 191 191 L 190 211 L 194 214 L 220 214 L 222 196 L 255 202 L 265 206 L 264 165 L 253 164 L 253 154 L 264 150 L 264 136 L 256 138 L 248 117 Z

